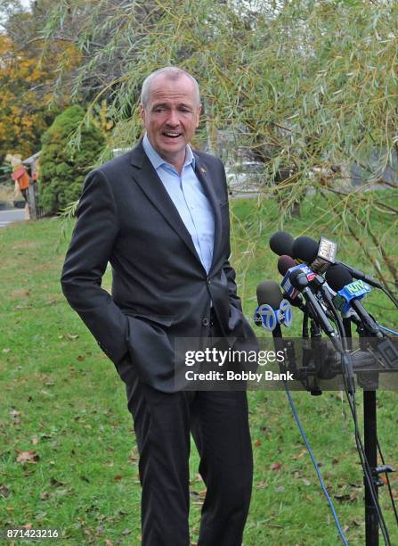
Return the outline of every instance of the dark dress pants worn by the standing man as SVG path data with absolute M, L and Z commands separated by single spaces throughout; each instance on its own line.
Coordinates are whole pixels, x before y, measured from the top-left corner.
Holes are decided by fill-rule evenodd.
M 162 393 L 132 380 L 131 368 L 126 393 L 140 454 L 142 546 L 190 544 L 190 433 L 207 487 L 198 545 L 240 546 L 253 479 L 246 392 Z

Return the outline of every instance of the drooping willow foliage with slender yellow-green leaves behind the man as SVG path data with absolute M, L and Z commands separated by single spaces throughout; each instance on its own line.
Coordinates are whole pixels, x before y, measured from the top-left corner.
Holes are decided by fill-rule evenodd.
M 61 33 L 83 53 L 79 70 L 60 70 L 58 87 L 72 79 L 72 94 L 90 99 L 87 118 L 107 99 L 110 148 L 140 135 L 140 88 L 152 70 L 189 70 L 204 106 L 193 144 L 232 165 L 237 150 L 261 161 L 264 203 L 279 203 L 275 228 L 312 186 L 339 237 L 371 236 L 358 256 L 396 291 L 396 252 L 388 260 L 384 246 L 398 211 L 368 190 L 385 184 L 386 168 L 397 188 L 397 20 L 397 2 L 371 0 L 87 0 L 83 7 L 71 0 L 56 6 L 44 35 L 51 42 Z M 361 167 L 360 187 L 353 166 Z M 375 206 L 389 221 L 381 236 L 369 221 Z M 256 211 L 260 230 L 265 220 L 264 208 Z

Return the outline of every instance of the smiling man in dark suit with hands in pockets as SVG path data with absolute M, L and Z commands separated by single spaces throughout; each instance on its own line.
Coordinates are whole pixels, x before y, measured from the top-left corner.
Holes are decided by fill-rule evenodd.
M 126 383 L 140 452 L 142 544 L 190 543 L 190 432 L 207 485 L 200 546 L 240 546 L 252 451 L 246 392 L 175 387 L 175 340 L 240 338 L 256 347 L 230 255 L 223 164 L 189 142 L 201 106 L 175 67 L 142 85 L 146 129 L 132 152 L 85 180 L 62 289 Z M 112 295 L 101 287 L 110 261 Z

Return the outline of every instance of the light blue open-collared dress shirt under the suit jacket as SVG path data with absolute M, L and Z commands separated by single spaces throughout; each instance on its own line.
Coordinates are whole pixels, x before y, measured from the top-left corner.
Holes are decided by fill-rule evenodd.
M 160 157 L 146 134 L 142 146 L 188 229 L 199 259 L 208 273 L 213 261 L 215 217 L 205 190 L 195 174 L 195 157 L 191 147 L 186 146 L 180 176 L 173 165 Z

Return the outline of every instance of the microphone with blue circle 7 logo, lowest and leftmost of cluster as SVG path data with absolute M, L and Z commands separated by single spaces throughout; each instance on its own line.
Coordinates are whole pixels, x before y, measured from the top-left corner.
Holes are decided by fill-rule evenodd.
M 264 281 L 256 288 L 258 307 L 255 312 L 257 326 L 276 335 L 281 335 L 280 325 L 290 327 L 292 311 L 287 300 L 283 299 L 280 286 L 274 281 Z

